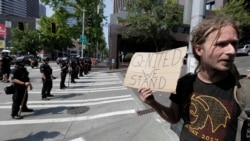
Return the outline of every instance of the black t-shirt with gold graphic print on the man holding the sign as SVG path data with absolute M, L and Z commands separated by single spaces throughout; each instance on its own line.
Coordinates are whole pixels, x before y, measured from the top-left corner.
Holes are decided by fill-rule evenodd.
M 185 122 L 181 141 L 235 141 L 241 110 L 234 99 L 234 84 L 232 75 L 214 84 L 204 83 L 196 77 L 191 97 L 186 97 L 187 103 L 181 104 L 181 99 L 185 98 L 181 98 L 178 91 L 170 96 L 173 102 L 182 105 L 180 110 Z

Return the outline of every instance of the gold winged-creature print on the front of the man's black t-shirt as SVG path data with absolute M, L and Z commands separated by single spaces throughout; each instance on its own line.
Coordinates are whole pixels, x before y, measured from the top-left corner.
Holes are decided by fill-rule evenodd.
M 190 124 L 185 127 L 204 140 L 223 140 L 231 119 L 232 105 L 212 96 L 193 94 L 189 107 Z

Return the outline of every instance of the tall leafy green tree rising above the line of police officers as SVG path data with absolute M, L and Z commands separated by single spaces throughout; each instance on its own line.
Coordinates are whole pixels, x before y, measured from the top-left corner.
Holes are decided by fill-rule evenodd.
M 102 1 L 99 0 L 75 0 L 75 1 L 69 1 L 69 0 L 41 0 L 41 2 L 50 5 L 55 13 L 57 11 L 63 11 L 65 14 L 64 16 L 59 16 L 58 14 L 55 14 L 55 18 L 58 19 L 58 17 L 61 17 L 65 21 L 71 17 L 76 19 L 77 23 L 76 25 L 72 27 L 68 27 L 68 30 L 70 33 L 67 33 L 65 35 L 71 36 L 71 39 L 78 39 L 80 35 L 82 35 L 82 15 L 83 15 L 83 9 L 85 9 L 85 19 L 84 19 L 84 34 L 87 36 L 87 40 L 91 43 L 87 46 L 87 50 L 90 52 L 95 52 L 96 47 L 98 44 L 98 48 L 102 45 L 104 45 L 101 42 L 105 42 L 105 40 L 102 40 L 102 37 L 104 37 L 104 34 L 102 32 L 101 22 L 105 17 L 103 16 L 104 7 L 105 5 L 102 3 Z M 100 9 L 97 9 L 97 5 L 100 5 Z M 66 6 L 70 6 L 73 8 L 74 12 L 69 13 L 66 11 Z M 92 18 L 92 26 L 87 26 L 87 18 Z M 64 22 L 60 22 L 64 23 Z M 66 24 L 66 23 L 64 23 Z

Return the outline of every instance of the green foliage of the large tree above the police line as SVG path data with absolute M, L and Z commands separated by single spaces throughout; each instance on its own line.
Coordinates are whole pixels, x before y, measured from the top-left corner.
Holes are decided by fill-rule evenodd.
M 67 38 L 77 40 L 80 35 L 82 35 L 82 23 L 84 22 L 84 35 L 87 37 L 87 40 L 91 43 L 90 45 L 87 45 L 86 48 L 90 52 L 96 52 L 96 47 L 98 47 L 99 51 L 104 51 L 106 48 L 106 43 L 104 40 L 104 34 L 102 32 L 102 26 L 101 22 L 106 18 L 103 16 L 104 13 L 104 7 L 105 5 L 99 1 L 99 0 L 41 0 L 41 2 L 50 5 L 53 10 L 55 11 L 55 14 L 53 15 L 53 21 L 56 21 L 58 33 L 56 36 L 53 36 L 53 39 L 57 39 L 56 43 L 55 41 L 53 44 L 57 44 L 60 41 L 67 41 L 67 43 L 64 44 L 64 47 L 68 45 Z M 100 9 L 97 9 L 97 5 L 100 5 Z M 70 6 L 73 8 L 74 13 L 69 13 L 66 11 L 65 7 Z M 84 21 L 82 21 L 83 17 L 83 10 L 85 10 L 84 15 Z M 87 18 L 92 17 L 93 19 L 93 26 L 87 27 Z M 68 18 L 74 18 L 76 19 L 77 23 L 76 25 L 73 25 L 72 27 L 67 26 L 66 20 Z M 45 23 L 49 23 L 45 21 Z M 46 28 L 46 26 L 45 26 Z M 43 32 L 43 31 L 41 31 Z M 46 34 L 48 35 L 48 34 Z M 48 37 L 50 37 L 48 35 Z M 44 44 L 44 47 L 51 45 L 51 42 L 47 40 L 47 42 Z M 59 43 L 61 44 L 61 43 Z M 53 46 L 50 48 L 56 48 L 57 46 Z

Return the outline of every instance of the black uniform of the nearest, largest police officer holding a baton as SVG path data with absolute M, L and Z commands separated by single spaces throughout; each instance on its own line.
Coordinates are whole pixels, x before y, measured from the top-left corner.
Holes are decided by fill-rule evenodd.
M 18 79 L 22 82 L 29 82 L 29 80 L 30 80 L 29 79 L 29 72 L 24 67 L 23 68 L 16 67 L 13 70 L 12 80 L 13 79 Z M 26 89 L 27 89 L 27 87 L 25 85 L 20 85 L 20 84 L 14 83 L 14 94 L 12 96 L 13 104 L 12 104 L 12 112 L 11 112 L 12 117 L 18 116 L 18 111 L 19 111 L 20 105 L 22 104 L 22 100 L 23 100 L 25 92 L 27 94 L 26 94 L 26 97 L 24 99 L 24 104 L 23 104 L 22 110 L 25 111 L 28 109 L 27 108 L 28 91 Z

